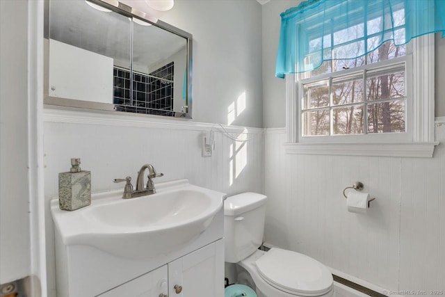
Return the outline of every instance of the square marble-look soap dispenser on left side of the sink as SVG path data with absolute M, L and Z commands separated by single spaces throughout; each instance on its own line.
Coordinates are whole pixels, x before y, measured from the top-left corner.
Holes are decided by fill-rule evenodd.
M 81 159 L 72 158 L 69 172 L 58 174 L 58 204 L 62 210 L 75 210 L 91 204 L 91 172 L 81 170 Z

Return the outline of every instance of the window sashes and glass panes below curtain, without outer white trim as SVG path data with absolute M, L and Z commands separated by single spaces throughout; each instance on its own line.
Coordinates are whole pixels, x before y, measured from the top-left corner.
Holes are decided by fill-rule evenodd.
M 371 54 L 331 60 L 300 74 L 301 135 L 406 132 L 406 45 L 393 42 Z

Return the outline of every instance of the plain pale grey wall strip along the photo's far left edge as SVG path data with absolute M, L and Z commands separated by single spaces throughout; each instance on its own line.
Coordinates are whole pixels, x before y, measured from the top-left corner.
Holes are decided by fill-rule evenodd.
M 26 15 L 27 1 L 0 1 L 0 284 L 31 273 Z

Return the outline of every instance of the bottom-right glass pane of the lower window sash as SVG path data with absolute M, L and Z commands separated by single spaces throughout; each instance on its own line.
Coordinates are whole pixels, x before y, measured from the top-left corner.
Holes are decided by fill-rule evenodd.
M 368 104 L 368 133 L 405 132 L 405 100 Z

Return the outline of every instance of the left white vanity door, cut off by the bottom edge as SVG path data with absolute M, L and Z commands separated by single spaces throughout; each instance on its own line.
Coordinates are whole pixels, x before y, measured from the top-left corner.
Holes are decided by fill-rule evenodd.
M 130 280 L 99 297 L 159 297 L 167 294 L 167 265 Z

